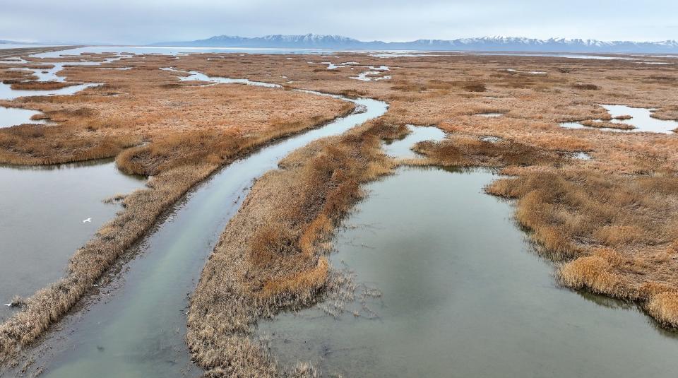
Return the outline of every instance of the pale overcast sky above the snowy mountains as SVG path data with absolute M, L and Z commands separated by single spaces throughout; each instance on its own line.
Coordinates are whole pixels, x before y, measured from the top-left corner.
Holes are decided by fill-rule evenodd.
M 677 15 L 676 0 L 0 0 L 0 39 L 144 44 L 316 33 L 385 41 L 678 40 Z

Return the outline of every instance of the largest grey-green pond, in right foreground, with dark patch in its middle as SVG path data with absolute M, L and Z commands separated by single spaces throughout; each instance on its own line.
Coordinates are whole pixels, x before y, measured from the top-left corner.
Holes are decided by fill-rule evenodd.
M 321 303 L 260 321 L 273 355 L 325 377 L 675 377 L 676 336 L 560 288 L 511 203 L 484 194 L 497 178 L 403 167 L 368 184 L 331 254 L 355 302 L 338 318 Z

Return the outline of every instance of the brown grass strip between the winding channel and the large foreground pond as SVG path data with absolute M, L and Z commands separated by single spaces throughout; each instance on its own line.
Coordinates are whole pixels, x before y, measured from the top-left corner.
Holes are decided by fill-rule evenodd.
M 329 265 L 320 252 L 362 195 L 359 183 L 390 172 L 379 143 L 402 130 L 371 122 L 295 151 L 258 179 L 191 297 L 187 340 L 208 374 L 278 374 L 281 367 L 249 338 L 250 326 L 321 295 Z

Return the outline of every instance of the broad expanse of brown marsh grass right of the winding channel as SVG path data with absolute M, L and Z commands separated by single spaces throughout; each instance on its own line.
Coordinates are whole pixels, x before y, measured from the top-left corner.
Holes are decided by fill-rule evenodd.
M 359 93 L 386 100 L 390 107 L 382 117 L 383 122 L 434 124 L 452 135 L 449 141 L 417 146 L 427 155 L 424 159 L 428 160 L 426 164 L 497 166 L 504 167 L 507 174 L 516 175 L 518 180 L 542 177 L 534 191 L 525 189 L 525 193 L 521 191 L 514 196 L 519 198 L 516 217 L 532 230 L 533 237 L 547 255 L 567 262 L 571 259 L 578 261 L 594 254 L 594 251 L 614 251 L 629 259 L 622 265 L 633 266 L 619 274 L 614 271 L 619 268 L 607 269 L 593 264 L 588 269 L 589 276 L 583 273 L 587 270 L 581 270 L 578 279 L 570 276 L 572 279 L 564 280 L 564 283 L 582 288 L 586 285 L 576 283 L 584 282 L 585 277 L 591 282 L 594 277 L 604 280 L 609 277 L 606 274 L 614 271 L 614 277 L 619 278 L 625 289 L 620 291 L 618 286 L 609 285 L 607 289 L 601 286 L 597 291 L 615 296 L 631 293 L 625 294 L 626 297 L 637 299 L 653 317 L 662 314 L 662 319 L 672 319 L 666 315 L 672 311 L 672 301 L 665 298 L 677 288 L 673 276 L 667 273 L 674 268 L 674 259 L 667 260 L 662 251 L 670 243 L 673 233 L 670 227 L 657 220 L 673 219 L 675 199 L 672 194 L 665 194 L 658 183 L 675 177 L 678 140 L 663 134 L 564 129 L 558 124 L 582 119 L 609 120 L 611 117 L 607 111 L 598 106 L 609 103 L 655 108 L 657 111 L 653 112 L 653 117 L 678 119 L 678 99 L 673 85 L 678 71 L 674 66 L 640 68 L 632 61 L 623 60 L 468 57 L 460 54 L 388 60 L 365 54 L 340 54 L 333 59 L 335 63 L 353 60 L 360 64 L 392 67 L 390 74 L 393 78 L 389 81 L 357 83 L 348 78 L 352 73 L 312 71 L 306 64 L 309 57 L 286 58 L 251 56 L 250 63 L 245 66 L 238 63 L 237 57 L 225 56 L 215 58 L 217 65 L 203 65 L 206 71 L 215 75 L 228 73 L 252 80 L 280 77 L 280 82 L 287 80 L 282 76 L 287 76 L 294 81 L 287 84 L 293 88 Z M 201 57 L 194 59 L 196 64 L 200 64 Z M 548 74 L 497 71 L 506 66 L 518 71 L 546 71 Z M 485 91 L 473 93 L 458 84 L 467 81 L 482 83 Z M 501 111 L 504 115 L 498 118 L 472 115 L 487 111 Z M 607 122 L 605 124 L 608 126 Z M 619 127 L 618 124 L 610 126 Z M 480 143 L 477 138 L 485 135 L 498 136 L 502 141 Z M 568 153 L 579 151 L 586 151 L 593 160 L 568 157 Z M 578 179 L 573 172 L 579 172 L 583 182 L 595 179 L 598 186 L 588 183 L 576 189 Z M 640 189 L 636 187 L 638 182 L 646 185 L 638 197 L 643 202 L 624 203 L 621 198 L 600 198 L 602 195 L 621 196 L 622 193 L 631 196 L 634 188 Z M 651 182 L 655 184 L 649 184 Z M 494 194 L 508 195 L 508 192 L 502 191 L 507 189 L 500 190 L 508 183 L 501 180 L 489 190 Z M 537 187 L 539 190 L 536 190 Z M 611 203 L 624 203 L 617 211 L 624 216 L 608 219 L 600 211 L 585 213 L 569 207 L 574 203 L 560 203 L 563 201 L 560 197 L 547 196 L 561 190 L 566 190 L 571 196 L 583 196 L 581 201 L 590 197 L 584 202 L 590 201 L 588 206 L 601 203 L 600 211 L 609 209 Z M 553 206 L 547 206 L 549 203 Z M 544 213 L 535 213 L 537 210 Z M 549 218 L 552 216 L 556 218 Z M 599 225 L 595 223 L 598 218 L 611 223 Z M 637 221 L 631 221 L 634 218 Z M 537 221 L 539 219 L 542 219 L 541 223 Z M 533 225 L 535 228 L 532 228 Z M 653 263 L 641 264 L 646 260 Z M 561 276 L 564 274 L 561 273 Z M 643 283 L 646 285 L 641 290 Z M 613 287 L 617 289 L 613 290 Z M 655 291 L 667 294 L 661 294 L 663 300 L 659 300 L 660 297 L 650 300 L 652 295 L 647 293 Z M 651 309 L 649 303 L 653 303 Z M 666 313 L 658 310 L 662 305 L 667 306 Z

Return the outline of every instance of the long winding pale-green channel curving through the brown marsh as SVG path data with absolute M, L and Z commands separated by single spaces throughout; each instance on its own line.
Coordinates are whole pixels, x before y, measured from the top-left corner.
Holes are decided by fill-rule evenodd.
M 270 83 L 189 78 L 213 83 Z M 303 90 L 309 93 L 307 90 Z M 187 296 L 194 290 L 206 258 L 246 197 L 254 180 L 293 150 L 343 133 L 386 112 L 386 102 L 345 98 L 364 112 L 353 112 L 318 129 L 274 143 L 223 167 L 191 190 L 143 238 L 138 251 L 109 285 L 85 300 L 82 311 L 64 318 L 31 353 L 42 377 L 185 377 L 200 374 L 184 343 Z

